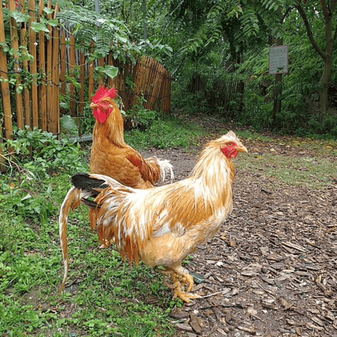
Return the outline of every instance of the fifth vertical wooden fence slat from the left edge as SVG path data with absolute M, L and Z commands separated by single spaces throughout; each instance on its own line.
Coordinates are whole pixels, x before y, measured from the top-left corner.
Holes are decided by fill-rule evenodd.
M 43 0 L 39 0 L 40 20 L 43 17 Z M 39 85 L 39 110 L 41 114 L 42 131 L 47 131 L 47 85 L 45 77 L 45 50 L 44 50 L 44 31 L 39 32 L 39 72 L 41 75 L 41 84 Z

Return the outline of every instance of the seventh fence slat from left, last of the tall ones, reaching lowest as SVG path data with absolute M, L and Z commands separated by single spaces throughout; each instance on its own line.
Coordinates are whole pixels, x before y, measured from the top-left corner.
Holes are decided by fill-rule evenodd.
M 54 18 L 56 19 L 57 12 L 59 11 L 59 4 L 56 2 Z M 53 130 L 54 134 L 57 134 L 60 140 L 60 95 L 59 95 L 59 84 L 60 84 L 60 70 L 59 70 L 59 29 L 58 27 L 53 27 L 53 58 L 52 58 L 52 101 L 53 101 Z

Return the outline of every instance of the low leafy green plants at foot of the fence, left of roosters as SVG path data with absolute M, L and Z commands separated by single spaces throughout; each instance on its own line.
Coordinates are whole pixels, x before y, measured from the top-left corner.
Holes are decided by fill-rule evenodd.
M 78 143 L 57 140 L 53 133 L 37 128 L 14 129 L 13 139 L 1 147 L 7 171 L 0 184 L 0 202 L 17 216 L 37 218 L 42 224 L 58 208 L 53 202 L 55 187 L 46 183 L 50 175 L 57 175 L 60 170 L 69 174 L 88 170 L 85 152 Z

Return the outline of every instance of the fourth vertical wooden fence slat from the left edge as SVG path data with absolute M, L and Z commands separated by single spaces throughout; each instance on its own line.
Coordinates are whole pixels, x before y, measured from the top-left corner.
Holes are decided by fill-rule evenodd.
M 28 0 L 28 8 L 29 8 L 29 27 L 31 23 L 35 21 L 35 1 Z M 39 125 L 38 121 L 38 97 L 37 97 L 37 83 L 36 83 L 36 36 L 33 29 L 30 28 L 29 30 L 29 54 L 33 56 L 33 61 L 30 63 L 30 73 L 33 75 L 35 80 L 32 82 L 31 85 L 31 93 L 32 93 L 32 120 L 33 120 L 33 127 Z

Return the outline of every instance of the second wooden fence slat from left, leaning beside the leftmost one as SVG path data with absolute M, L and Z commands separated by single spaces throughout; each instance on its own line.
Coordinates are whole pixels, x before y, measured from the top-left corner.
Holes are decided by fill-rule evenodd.
M 8 1 L 8 7 L 10 11 L 15 11 L 16 2 L 14 0 Z M 16 113 L 17 113 L 17 125 L 19 129 L 23 129 L 23 108 L 22 108 L 22 94 L 19 93 L 20 85 L 21 85 L 21 77 L 20 77 L 20 63 L 19 63 L 19 54 L 16 51 L 19 51 L 19 37 L 18 37 L 18 29 L 17 22 L 14 18 L 10 18 L 10 40 L 11 40 L 11 48 L 14 50 L 13 58 L 14 58 L 14 71 L 16 72 L 17 82 L 15 85 L 15 98 L 16 98 Z

